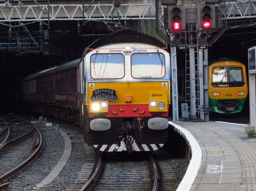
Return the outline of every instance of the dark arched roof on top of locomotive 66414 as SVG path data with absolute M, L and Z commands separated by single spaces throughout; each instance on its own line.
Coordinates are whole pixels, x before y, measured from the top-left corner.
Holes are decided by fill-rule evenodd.
M 90 48 L 98 48 L 100 46 L 113 44 L 113 43 L 132 43 L 132 42 L 150 44 L 150 45 L 158 46 L 161 48 L 166 47 L 164 43 L 162 43 L 160 40 L 156 39 L 153 36 L 149 36 L 148 34 L 141 33 L 137 30 L 134 30 L 133 28 L 123 28 L 107 36 L 100 37 L 99 39 L 94 41 L 90 46 L 85 48 L 82 54 L 82 57 L 84 57 L 85 54 L 87 54 L 88 49 Z

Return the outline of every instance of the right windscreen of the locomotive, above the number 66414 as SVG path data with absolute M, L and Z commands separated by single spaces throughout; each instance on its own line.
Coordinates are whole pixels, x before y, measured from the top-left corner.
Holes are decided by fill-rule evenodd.
M 165 77 L 165 56 L 162 53 L 131 55 L 131 75 L 134 78 Z

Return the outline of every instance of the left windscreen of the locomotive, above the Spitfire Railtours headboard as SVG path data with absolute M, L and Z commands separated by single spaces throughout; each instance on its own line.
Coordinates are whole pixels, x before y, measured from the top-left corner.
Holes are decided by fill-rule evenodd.
M 91 55 L 91 77 L 94 79 L 118 79 L 125 75 L 122 54 Z

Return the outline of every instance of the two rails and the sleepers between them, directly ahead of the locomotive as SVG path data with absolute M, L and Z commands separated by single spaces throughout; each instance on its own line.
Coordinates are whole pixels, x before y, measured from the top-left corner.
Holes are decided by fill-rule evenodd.
M 91 178 L 80 190 L 157 190 L 158 172 L 153 159 L 103 161 L 98 157 Z

